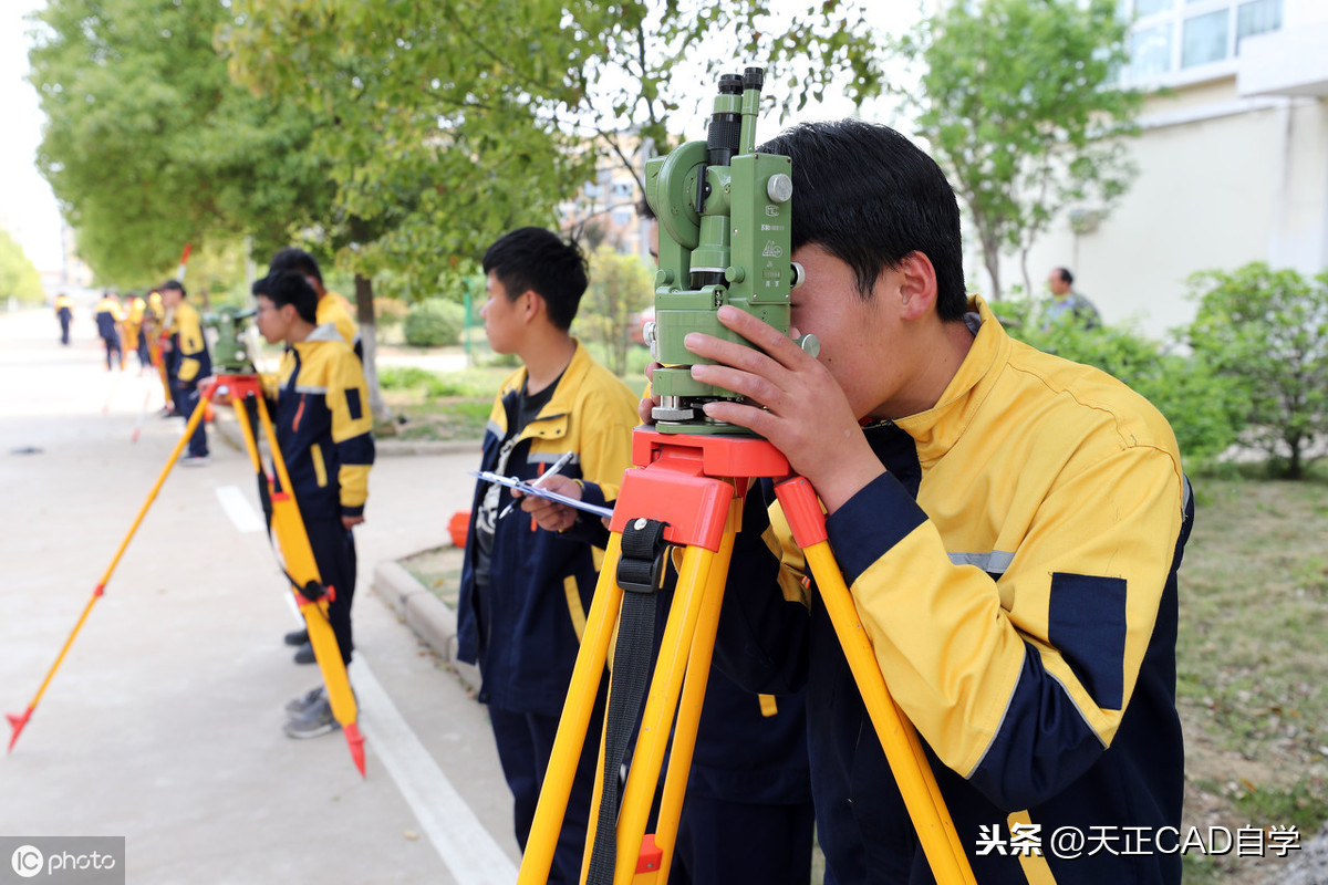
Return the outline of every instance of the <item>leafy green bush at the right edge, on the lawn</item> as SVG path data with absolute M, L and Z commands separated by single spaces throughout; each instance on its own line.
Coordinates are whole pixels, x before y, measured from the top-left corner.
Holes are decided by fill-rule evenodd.
M 1195 354 L 1239 382 L 1248 438 L 1301 479 L 1328 438 L 1328 272 L 1307 280 L 1255 261 L 1190 277 Z

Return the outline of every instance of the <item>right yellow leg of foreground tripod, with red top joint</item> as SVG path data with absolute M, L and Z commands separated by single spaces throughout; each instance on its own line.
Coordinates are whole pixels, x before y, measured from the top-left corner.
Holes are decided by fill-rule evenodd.
M 908 817 L 912 819 L 914 828 L 918 831 L 918 840 L 922 843 L 923 853 L 931 865 L 932 876 L 936 877 L 939 885 L 976 885 L 977 880 L 973 878 L 968 854 L 964 853 L 959 841 L 955 823 L 950 817 L 950 809 L 946 808 L 946 800 L 940 795 L 936 775 L 931 770 L 918 732 L 895 705 L 894 698 L 890 697 L 880 665 L 871 647 L 871 640 L 858 620 L 853 594 L 839 571 L 839 563 L 834 559 L 830 543 L 823 540 L 825 519 L 821 515 L 815 494 L 810 490 L 811 486 L 805 479 L 795 479 L 781 484 L 777 491 L 785 515 L 789 517 L 790 525 L 794 527 L 798 545 L 802 547 L 807 565 L 811 567 L 821 600 L 825 602 L 826 613 L 834 625 L 835 636 L 839 637 L 839 645 L 849 662 L 849 669 L 853 671 L 853 678 L 858 683 L 858 691 L 862 693 L 867 715 L 871 718 L 876 738 L 886 752 L 886 760 L 890 763 L 890 771 L 899 785 Z M 794 503 L 791 498 L 799 494 L 810 498 Z M 805 525 L 807 513 L 814 513 L 814 519 L 821 523 L 821 540 L 815 540 L 817 536 L 811 539 L 798 536 L 802 529 L 799 521 Z

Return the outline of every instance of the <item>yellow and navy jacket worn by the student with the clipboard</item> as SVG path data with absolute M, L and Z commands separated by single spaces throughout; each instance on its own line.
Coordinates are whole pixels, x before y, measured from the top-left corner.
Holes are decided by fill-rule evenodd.
M 482 470 L 493 470 L 507 437 L 509 406 L 526 383 L 521 368 L 503 381 L 485 430 Z M 552 397 L 522 430 L 506 474 L 534 479 L 568 451 L 562 474 L 582 484 L 582 499 L 610 504 L 618 499 L 623 471 L 632 463 L 632 427 L 637 398 L 608 369 L 576 344 Z M 487 592 L 475 592 L 475 515 L 486 483 L 477 483 L 470 511 L 466 560 L 457 610 L 458 657 L 478 661 L 479 699 L 519 713 L 562 713 L 572 663 L 586 629 L 602 551 L 558 532 L 533 531 L 517 508 L 498 520 Z M 503 488 L 499 507 L 511 498 Z M 598 521 L 598 517 L 596 517 Z

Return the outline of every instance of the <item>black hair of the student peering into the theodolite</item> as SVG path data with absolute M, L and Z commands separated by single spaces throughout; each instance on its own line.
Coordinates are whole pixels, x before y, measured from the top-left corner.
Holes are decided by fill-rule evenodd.
M 850 268 L 866 300 L 886 268 L 922 252 L 936 269 L 936 314 L 961 320 L 959 203 L 936 162 L 888 126 L 801 123 L 757 149 L 793 161 L 793 248 L 819 245 Z

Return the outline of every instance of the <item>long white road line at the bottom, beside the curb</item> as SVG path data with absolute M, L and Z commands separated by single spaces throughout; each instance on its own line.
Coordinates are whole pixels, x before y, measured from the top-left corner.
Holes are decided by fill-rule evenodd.
M 392 775 L 452 877 L 461 885 L 511 885 L 517 865 L 498 847 L 373 677 L 363 654 L 351 662 L 367 746 Z

